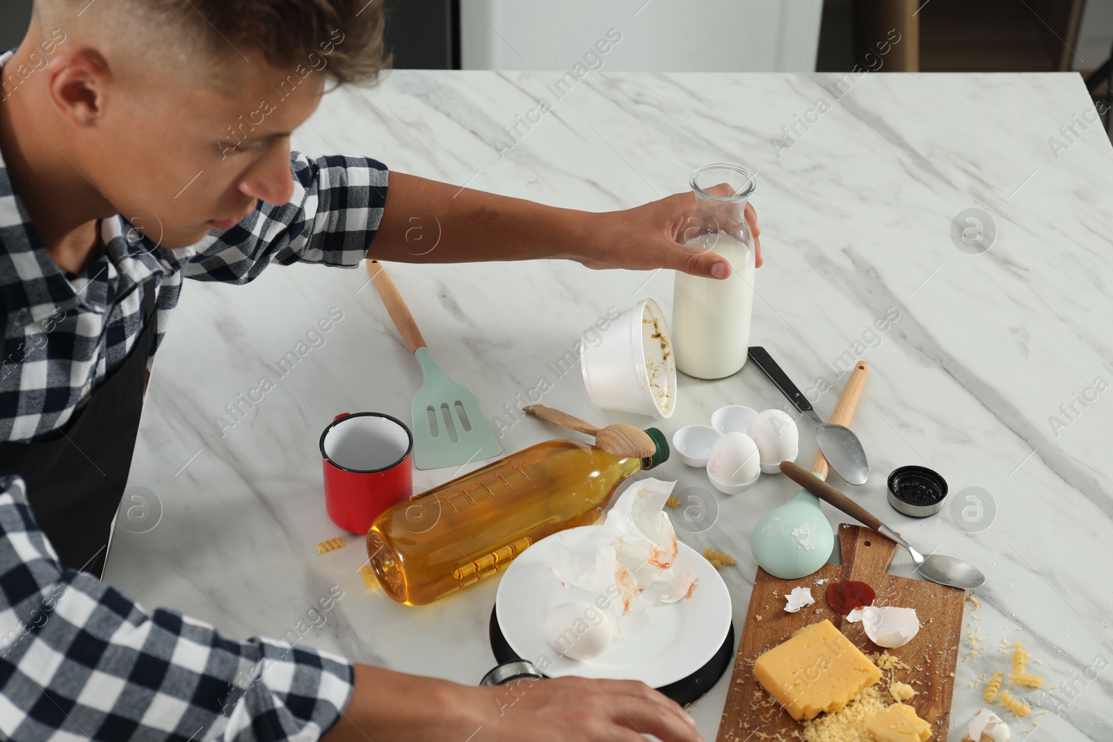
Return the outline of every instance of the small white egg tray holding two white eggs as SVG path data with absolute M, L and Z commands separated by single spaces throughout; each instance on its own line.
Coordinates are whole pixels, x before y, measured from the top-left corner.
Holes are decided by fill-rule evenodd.
M 758 413 L 727 405 L 715 410 L 710 425 L 686 425 L 673 433 L 672 451 L 688 466 L 707 469 L 716 489 L 738 495 L 757 484 L 762 472 L 777 474 L 782 461 L 796 461 L 799 432 L 781 409 Z

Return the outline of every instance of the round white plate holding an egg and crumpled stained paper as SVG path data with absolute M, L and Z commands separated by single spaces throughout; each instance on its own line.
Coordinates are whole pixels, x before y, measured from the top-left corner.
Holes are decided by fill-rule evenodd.
M 561 585 L 546 564 L 549 548 L 554 540 L 563 538 L 571 548 L 593 557 L 590 536 L 601 527 L 587 525 L 542 538 L 506 567 L 494 603 L 506 643 L 518 656 L 534 664 L 544 657 L 542 672 L 550 677 L 640 680 L 650 687 L 661 687 L 702 667 L 722 646 L 730 630 L 730 593 L 711 563 L 684 544 L 679 544 L 673 570 L 696 573 L 699 585 L 691 597 L 661 603 L 664 584 L 647 588 L 642 601 L 649 625 L 622 640 L 615 633 L 614 642 L 592 660 L 569 660 L 545 642 L 544 623 L 550 611 L 571 601 L 594 603 L 599 596 Z

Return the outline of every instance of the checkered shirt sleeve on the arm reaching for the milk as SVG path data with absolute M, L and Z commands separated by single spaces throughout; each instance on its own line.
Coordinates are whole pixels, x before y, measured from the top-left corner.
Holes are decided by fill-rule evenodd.
M 236 226 L 195 245 L 185 276 L 246 284 L 270 263 L 354 268 L 375 238 L 390 172 L 367 157 L 290 154 L 294 195 L 282 206 L 259 201 Z

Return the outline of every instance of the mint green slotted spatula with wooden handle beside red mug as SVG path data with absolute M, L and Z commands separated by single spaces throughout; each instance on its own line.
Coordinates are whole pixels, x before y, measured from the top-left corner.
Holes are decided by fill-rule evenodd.
M 449 378 L 433 360 L 425 338 L 383 264 L 368 260 L 367 270 L 394 326 L 421 364 L 424 377 L 413 404 L 414 466 L 420 469 L 462 466 L 500 455 L 502 445 L 475 396 Z

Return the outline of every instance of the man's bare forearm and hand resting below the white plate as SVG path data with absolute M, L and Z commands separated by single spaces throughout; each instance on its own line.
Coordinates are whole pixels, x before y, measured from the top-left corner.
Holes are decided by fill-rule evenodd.
M 674 702 L 634 681 L 522 681 L 469 687 L 355 666 L 355 690 L 325 742 L 700 742 Z

